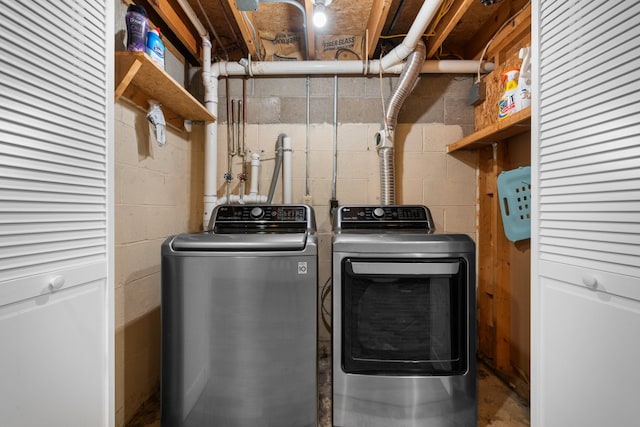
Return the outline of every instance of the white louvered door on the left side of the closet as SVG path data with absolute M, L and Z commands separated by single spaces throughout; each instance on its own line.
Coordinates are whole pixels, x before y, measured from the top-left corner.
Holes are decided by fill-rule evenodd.
M 0 0 L 0 425 L 113 424 L 113 4 Z

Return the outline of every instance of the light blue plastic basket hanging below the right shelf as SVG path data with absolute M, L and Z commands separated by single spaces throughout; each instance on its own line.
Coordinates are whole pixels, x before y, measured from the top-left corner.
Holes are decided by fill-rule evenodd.
M 504 234 L 512 242 L 531 237 L 531 168 L 519 167 L 498 175 L 498 197 Z

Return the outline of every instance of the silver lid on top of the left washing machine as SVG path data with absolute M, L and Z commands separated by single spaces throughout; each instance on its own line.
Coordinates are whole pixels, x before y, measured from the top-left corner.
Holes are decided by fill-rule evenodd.
M 179 234 L 171 241 L 175 252 L 297 251 L 307 244 L 306 233 Z

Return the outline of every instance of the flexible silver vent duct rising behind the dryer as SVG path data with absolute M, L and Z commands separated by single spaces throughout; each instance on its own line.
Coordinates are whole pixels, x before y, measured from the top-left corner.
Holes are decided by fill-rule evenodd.
M 400 107 L 415 86 L 420 69 L 427 55 L 422 41 L 418 41 L 413 52 L 407 57 L 407 63 L 400 79 L 389 97 L 386 108 L 384 130 L 376 135 L 376 146 L 380 156 L 380 202 L 383 205 L 396 203 L 394 138 Z

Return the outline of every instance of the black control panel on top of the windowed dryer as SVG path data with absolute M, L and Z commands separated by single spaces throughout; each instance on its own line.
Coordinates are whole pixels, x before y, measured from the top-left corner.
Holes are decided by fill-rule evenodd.
M 335 225 L 337 229 L 435 228 L 429 209 L 420 205 L 341 206 Z

